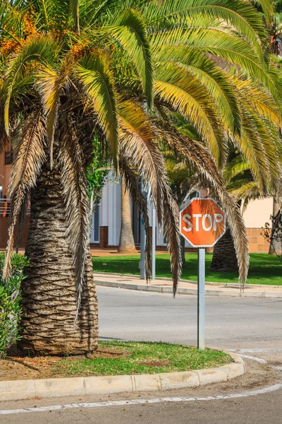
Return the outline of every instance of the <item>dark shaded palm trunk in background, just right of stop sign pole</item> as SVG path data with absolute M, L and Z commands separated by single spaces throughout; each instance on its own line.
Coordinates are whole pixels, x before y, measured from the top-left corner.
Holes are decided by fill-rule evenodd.
M 211 271 L 238 272 L 238 261 L 229 228 L 214 247 Z

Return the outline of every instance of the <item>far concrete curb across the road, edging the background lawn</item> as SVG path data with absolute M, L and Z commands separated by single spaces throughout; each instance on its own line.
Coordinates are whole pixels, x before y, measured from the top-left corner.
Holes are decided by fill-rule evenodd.
M 154 293 L 173 293 L 171 287 L 162 287 L 161 285 L 142 285 L 142 284 L 132 284 L 132 283 L 116 283 L 114 281 L 103 281 L 94 277 L 94 282 L 96 285 L 104 285 L 104 287 L 114 287 L 114 288 L 127 288 L 128 290 L 140 290 Z M 197 295 L 197 288 L 183 288 L 178 287 L 178 295 Z M 206 288 L 206 295 L 212 296 L 228 296 L 235 298 L 282 298 L 282 292 L 246 292 L 240 293 L 230 290 L 230 288 L 224 288 L 224 290 L 209 290 Z

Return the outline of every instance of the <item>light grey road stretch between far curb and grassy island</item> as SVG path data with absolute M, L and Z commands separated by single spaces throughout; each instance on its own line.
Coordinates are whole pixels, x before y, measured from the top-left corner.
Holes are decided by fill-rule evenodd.
M 100 338 L 197 344 L 195 296 L 98 287 Z M 206 298 L 206 344 L 282 348 L 282 299 Z

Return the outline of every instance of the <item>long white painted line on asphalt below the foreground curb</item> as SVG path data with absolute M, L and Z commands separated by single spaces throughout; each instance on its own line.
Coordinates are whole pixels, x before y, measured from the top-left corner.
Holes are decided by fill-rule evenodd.
M 23 408 L 23 409 L 4 409 L 0 411 L 0 415 L 11 415 L 15 413 L 32 413 L 32 412 L 48 412 L 58 411 L 63 409 L 74 409 L 74 408 L 102 408 L 109 406 L 128 406 L 128 405 L 142 405 L 142 404 L 160 404 L 164 402 L 194 402 L 194 401 L 217 401 L 221 399 L 234 399 L 243 398 L 248 396 L 257 396 L 258 394 L 271 393 L 282 389 L 282 383 L 274 384 L 269 387 L 263 387 L 262 389 L 246 390 L 241 393 L 233 394 L 221 394 L 219 396 L 207 396 L 207 397 L 164 397 L 156 399 L 129 399 L 124 401 L 107 401 L 107 402 L 93 402 L 93 403 L 81 403 L 81 404 L 66 404 L 66 405 L 54 405 L 54 406 L 40 406 L 38 408 Z

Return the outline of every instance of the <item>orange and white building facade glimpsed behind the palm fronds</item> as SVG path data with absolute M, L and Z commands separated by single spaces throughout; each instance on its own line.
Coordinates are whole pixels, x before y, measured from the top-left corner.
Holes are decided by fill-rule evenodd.
M 8 237 L 8 179 L 11 172 L 13 152 L 7 149 L 0 152 L 0 249 L 6 247 Z M 191 196 L 197 196 L 194 192 Z M 186 203 L 188 203 L 189 198 Z M 272 213 L 272 199 L 251 201 L 244 213 L 245 224 L 250 242 L 250 252 L 268 252 L 269 244 L 262 237 L 262 227 L 269 221 Z M 152 206 L 149 204 L 150 225 L 152 225 Z M 132 226 L 135 245 L 140 245 L 140 212 L 131 203 Z M 27 214 L 20 247 L 25 247 L 29 226 L 29 215 Z M 158 225 L 157 225 L 158 227 Z M 92 230 L 90 243 L 92 247 L 106 248 L 118 247 L 121 233 L 121 185 L 114 179 L 109 178 L 104 186 L 102 198 L 94 211 L 92 217 Z M 188 242 L 186 247 L 189 248 Z M 158 249 L 166 249 L 166 237 L 164 229 L 157 228 L 156 244 Z

